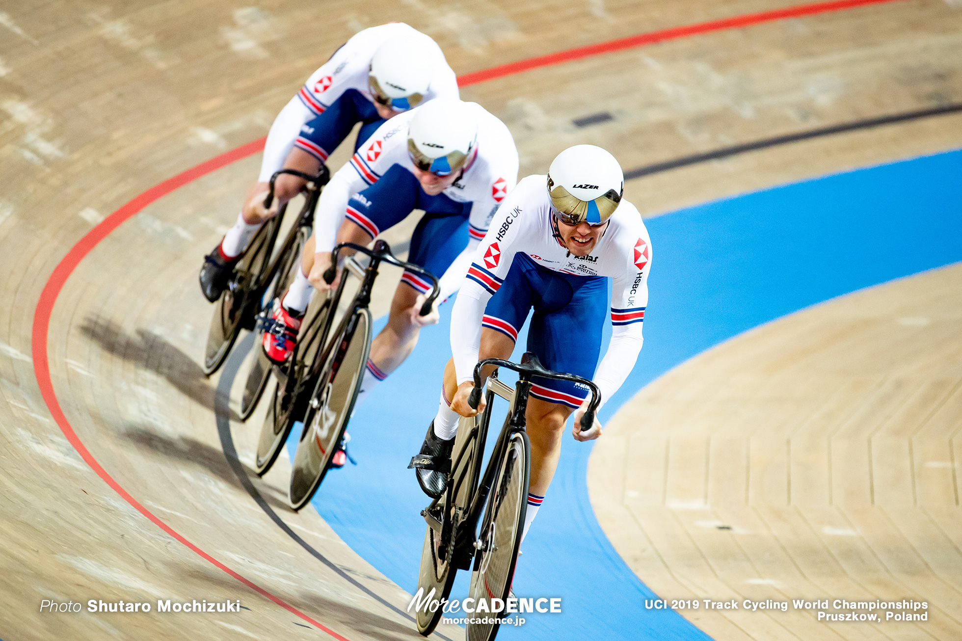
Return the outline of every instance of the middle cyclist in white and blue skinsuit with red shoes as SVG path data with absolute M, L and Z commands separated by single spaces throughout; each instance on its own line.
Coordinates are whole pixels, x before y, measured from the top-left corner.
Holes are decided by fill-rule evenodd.
M 285 167 L 310 173 L 319 160 L 294 148 Z M 423 210 L 424 217 L 412 235 L 407 260 L 438 276 L 440 301 L 452 295 L 517 180 L 518 150 L 511 132 L 476 103 L 441 98 L 381 125 L 321 192 L 315 235 L 305 245 L 301 269 L 288 292 L 275 301 L 271 319 L 283 327 L 264 334 L 267 356 L 275 362 L 291 356 L 314 290 L 337 284 L 328 285 L 322 278 L 335 244 L 368 244 L 415 209 Z M 304 183 L 290 174 L 279 176 L 272 209 L 296 195 Z M 263 202 L 259 206 L 263 209 Z M 371 344 L 357 402 L 408 357 L 420 328 L 438 321 L 436 311 L 426 317 L 418 313 L 430 290 L 431 284 L 418 274 L 402 275 L 388 324 Z M 333 464 L 342 460 L 336 454 Z

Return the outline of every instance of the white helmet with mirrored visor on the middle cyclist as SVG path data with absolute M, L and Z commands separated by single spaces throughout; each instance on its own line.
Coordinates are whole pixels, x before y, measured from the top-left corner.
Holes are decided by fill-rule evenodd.
M 437 98 L 418 108 L 408 125 L 415 167 L 446 176 L 465 167 L 477 149 L 477 115 L 467 102 Z

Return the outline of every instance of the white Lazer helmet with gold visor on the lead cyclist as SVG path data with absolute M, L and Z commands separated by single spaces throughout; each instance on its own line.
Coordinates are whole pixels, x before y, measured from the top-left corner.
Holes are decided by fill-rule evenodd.
M 615 157 L 594 144 L 576 144 L 562 151 L 547 170 L 547 192 L 555 216 L 576 225 L 604 222 L 618 208 L 624 174 Z

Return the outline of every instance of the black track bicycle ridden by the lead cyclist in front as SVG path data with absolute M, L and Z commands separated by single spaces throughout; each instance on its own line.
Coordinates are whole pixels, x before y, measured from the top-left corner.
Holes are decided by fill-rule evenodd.
M 450 595 L 458 570 L 471 570 L 469 596 L 475 603 L 485 599 L 490 608 L 493 599 L 503 603 L 511 591 L 531 467 L 524 412 L 532 377 L 568 380 L 591 390 L 592 400 L 581 419 L 582 430 L 595 423 L 595 410 L 601 400 L 601 393 L 592 381 L 545 370 L 537 356 L 525 353 L 520 365 L 486 358 L 474 366 L 474 389 L 468 397 L 472 408 L 477 408 L 481 399 L 481 369 L 488 365 L 518 372 L 519 380 L 511 388 L 498 379 L 496 369 L 489 376 L 484 411 L 459 422 L 443 495 L 421 511 L 427 529 L 421 550 L 418 593 L 422 598 L 433 594 L 418 608 L 418 632 L 424 636 L 434 631 L 443 614 L 441 607 L 432 611 L 427 604 L 432 599 L 442 601 Z M 509 408 L 482 475 L 481 463 L 495 396 L 507 400 Z M 412 466 L 417 467 L 417 459 L 416 456 Z M 494 639 L 498 629 L 494 619 L 501 614 L 504 613 L 492 612 L 482 617 L 490 623 L 469 623 L 468 641 Z

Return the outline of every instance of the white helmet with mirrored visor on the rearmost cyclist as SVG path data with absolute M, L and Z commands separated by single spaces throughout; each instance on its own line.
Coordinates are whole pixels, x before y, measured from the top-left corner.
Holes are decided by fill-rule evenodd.
M 420 35 L 420 34 L 419 34 Z M 427 36 L 385 40 L 370 59 L 367 88 L 375 102 L 403 112 L 418 106 L 434 77 L 434 56 L 425 55 Z

